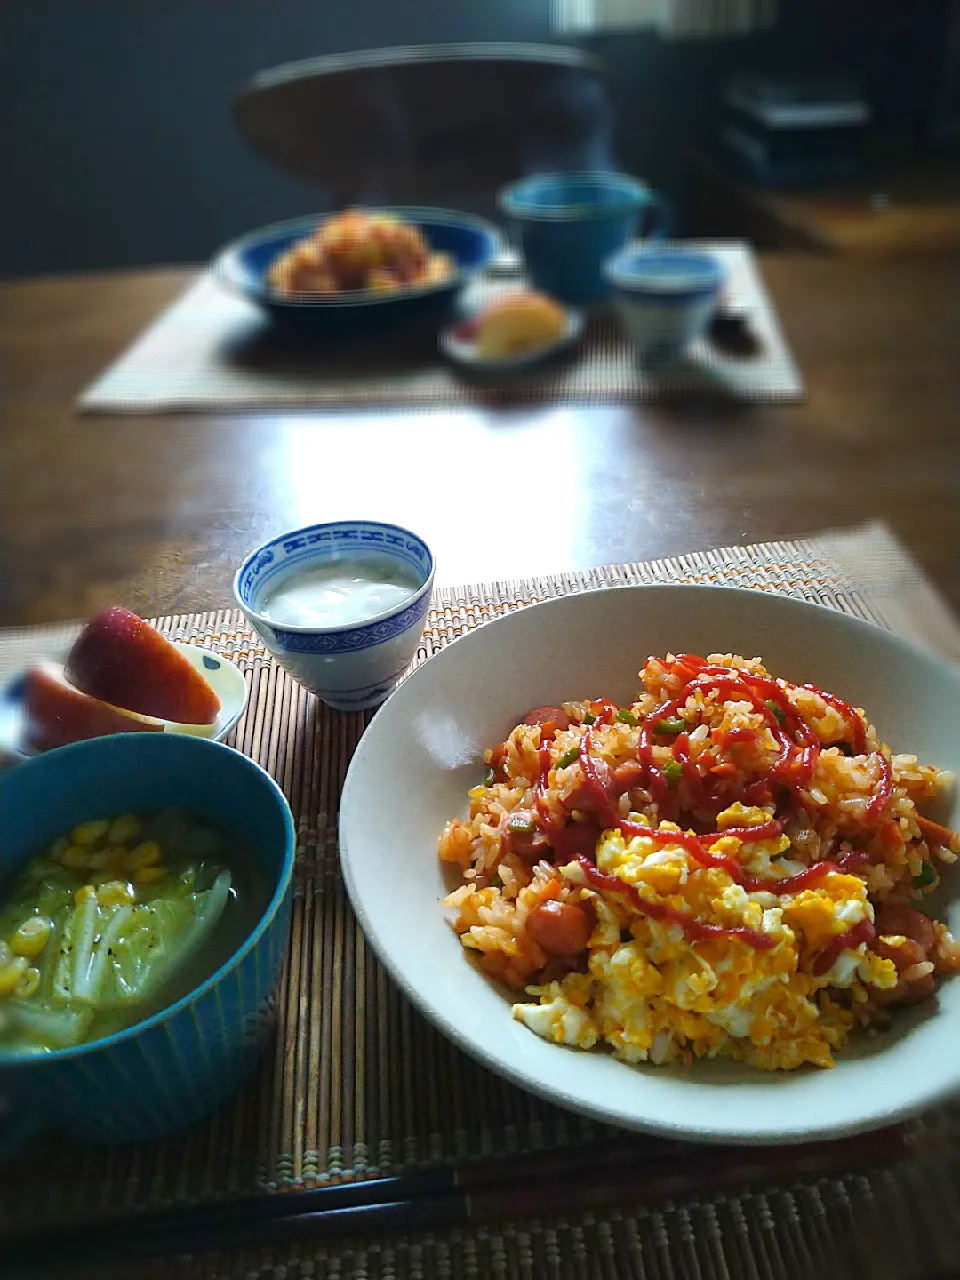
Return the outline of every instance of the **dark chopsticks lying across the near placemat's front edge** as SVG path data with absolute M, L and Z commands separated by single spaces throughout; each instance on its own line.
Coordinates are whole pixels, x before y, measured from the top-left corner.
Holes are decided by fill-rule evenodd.
M 0 1242 L 0 1275 L 580 1213 L 892 1164 L 911 1149 L 904 1126 L 796 1147 L 613 1139 L 12 1236 Z

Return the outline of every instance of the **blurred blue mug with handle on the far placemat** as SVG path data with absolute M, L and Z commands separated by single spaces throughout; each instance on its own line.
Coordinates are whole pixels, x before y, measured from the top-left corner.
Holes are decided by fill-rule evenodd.
M 548 173 L 506 187 L 500 209 L 509 218 L 531 283 L 576 306 L 603 302 L 609 284 L 603 264 L 637 234 L 667 233 L 660 196 L 621 173 Z

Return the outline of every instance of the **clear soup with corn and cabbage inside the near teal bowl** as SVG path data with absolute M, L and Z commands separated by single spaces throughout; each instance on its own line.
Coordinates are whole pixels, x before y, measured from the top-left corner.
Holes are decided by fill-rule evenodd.
M 0 1051 L 44 1053 L 143 1021 L 193 991 L 269 900 L 250 849 L 186 809 L 74 827 L 0 895 Z

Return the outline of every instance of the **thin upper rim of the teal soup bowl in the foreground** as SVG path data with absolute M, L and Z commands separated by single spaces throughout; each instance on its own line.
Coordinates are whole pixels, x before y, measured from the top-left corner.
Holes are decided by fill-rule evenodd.
M 106 733 L 102 737 L 91 737 L 82 742 L 70 742 L 68 746 L 58 746 L 56 754 L 60 751 L 74 751 L 79 750 L 96 750 L 100 742 L 116 742 L 124 741 L 129 742 L 133 737 L 141 737 L 140 733 Z M 152 741 L 155 737 L 166 742 L 175 744 L 170 748 L 173 750 L 183 750 L 184 744 L 187 751 L 200 749 L 216 750 L 216 751 L 229 751 L 230 755 L 237 756 L 238 760 L 243 763 L 248 769 L 253 771 L 253 776 L 257 776 L 261 782 L 266 783 L 268 792 L 271 794 L 274 800 L 280 801 L 280 813 L 283 814 L 283 827 L 285 836 L 285 849 L 283 854 L 283 865 L 280 868 L 280 874 L 278 877 L 276 888 L 274 890 L 270 901 L 266 904 L 262 915 L 250 931 L 243 942 L 237 947 L 237 950 L 229 955 L 219 968 L 216 968 L 207 978 L 205 978 L 198 986 L 188 991 L 186 996 L 180 996 L 179 1000 L 174 1001 L 173 1005 L 166 1005 L 164 1009 L 157 1010 L 157 1012 L 151 1014 L 150 1018 L 145 1018 L 142 1021 L 134 1023 L 132 1027 L 124 1027 L 123 1030 L 113 1032 L 110 1036 L 104 1036 L 100 1039 L 88 1041 L 86 1044 L 74 1044 L 70 1048 L 58 1048 L 51 1050 L 49 1053 L 36 1055 L 36 1053 L 13 1053 L 10 1051 L 0 1050 L 0 1070 L 4 1068 L 24 1068 L 31 1064 L 42 1064 L 46 1066 L 47 1062 L 59 1062 L 65 1059 L 82 1057 L 86 1053 L 93 1053 L 97 1050 L 111 1048 L 114 1044 L 119 1044 L 123 1041 L 132 1039 L 134 1036 L 140 1036 L 145 1030 L 150 1030 L 154 1027 L 159 1027 L 161 1023 L 168 1021 L 177 1014 L 183 1012 L 184 1009 L 189 1009 L 191 1005 L 196 1004 L 202 996 L 206 996 L 214 989 L 228 974 L 230 974 L 237 965 L 239 965 L 253 950 L 253 947 L 260 942 L 262 936 L 273 924 L 276 913 L 283 905 L 283 900 L 287 896 L 287 891 L 291 887 L 293 879 L 293 868 L 297 856 L 297 832 L 293 826 L 293 814 L 291 813 L 291 806 L 287 796 L 283 794 L 278 783 L 266 772 L 262 765 L 257 764 L 248 755 L 242 751 L 236 750 L 233 746 L 225 746 L 223 742 L 211 742 L 209 739 L 191 737 L 189 735 L 150 735 Z M 136 748 L 134 748 L 136 750 Z M 168 748 L 164 748 L 168 750 Z M 49 758 L 52 753 L 44 751 L 40 755 L 32 755 L 29 759 L 24 760 L 22 764 L 15 765 L 10 772 L 17 776 L 20 769 L 36 769 L 42 768 L 42 762 Z

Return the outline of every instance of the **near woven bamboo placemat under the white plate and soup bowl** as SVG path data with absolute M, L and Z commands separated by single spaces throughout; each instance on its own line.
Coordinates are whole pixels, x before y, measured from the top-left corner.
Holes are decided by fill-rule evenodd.
M 484 586 L 440 589 L 417 662 L 509 609 L 590 588 L 714 582 L 782 591 L 900 626 L 960 657 L 960 627 L 883 529 Z M 909 623 L 909 626 L 905 626 Z M 259 1078 L 184 1134 L 140 1147 L 40 1139 L 0 1174 L 0 1228 L 255 1189 L 316 1185 L 600 1139 L 613 1130 L 524 1093 L 465 1057 L 401 997 L 365 945 L 337 861 L 337 806 L 361 713 L 317 705 L 236 611 L 161 620 L 234 658 L 250 681 L 236 745 L 280 782 L 297 822 L 297 888 L 275 1047 Z M 0 675 L 69 628 L 0 635 Z M 384 1240 L 214 1256 L 184 1276 L 906 1280 L 960 1265 L 960 1111 L 918 1121 L 940 1143 L 915 1161 L 776 1188 Z M 0 1261 L 3 1243 L 0 1240 Z M 143 1268 L 138 1268 L 143 1274 Z M 172 1274 L 169 1268 L 150 1274 Z

